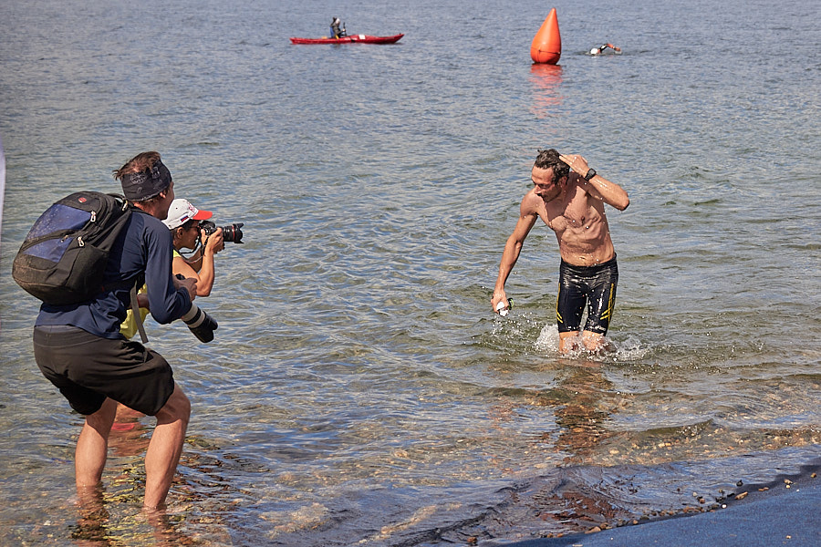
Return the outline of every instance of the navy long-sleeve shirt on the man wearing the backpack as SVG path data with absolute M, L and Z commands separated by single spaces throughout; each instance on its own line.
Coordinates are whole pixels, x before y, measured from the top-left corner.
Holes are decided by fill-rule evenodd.
M 42 304 L 35 325 L 73 325 L 103 338 L 122 338 L 120 324 L 130 307 L 130 286 L 123 282 L 145 273 L 151 316 L 171 323 L 191 309 L 188 291 L 175 289 L 171 273 L 171 231 L 159 219 L 134 210 L 109 254 L 103 278 L 113 290 L 85 304 Z

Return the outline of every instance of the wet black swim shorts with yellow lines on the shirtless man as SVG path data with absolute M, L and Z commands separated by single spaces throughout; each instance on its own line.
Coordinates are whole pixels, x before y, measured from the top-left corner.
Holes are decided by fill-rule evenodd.
M 556 322 L 560 333 L 577 332 L 587 304 L 585 330 L 607 334 L 616 304 L 618 265 L 616 257 L 595 266 L 574 266 L 562 261 Z

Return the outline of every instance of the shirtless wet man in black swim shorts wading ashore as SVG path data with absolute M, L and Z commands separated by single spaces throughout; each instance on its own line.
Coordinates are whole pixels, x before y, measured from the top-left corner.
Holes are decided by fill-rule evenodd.
M 603 349 L 618 284 L 616 250 L 604 204 L 624 211 L 630 204 L 628 194 L 589 169 L 581 156 L 560 155 L 553 149 L 539 150 L 530 178 L 534 188 L 522 199 L 519 221 L 504 245 L 491 306 L 496 313 L 509 307 L 504 283 L 527 234 L 540 218 L 556 232 L 562 256 L 556 296 L 559 351 L 578 349 L 576 340 L 585 304 L 587 323 L 582 342 L 589 351 Z

